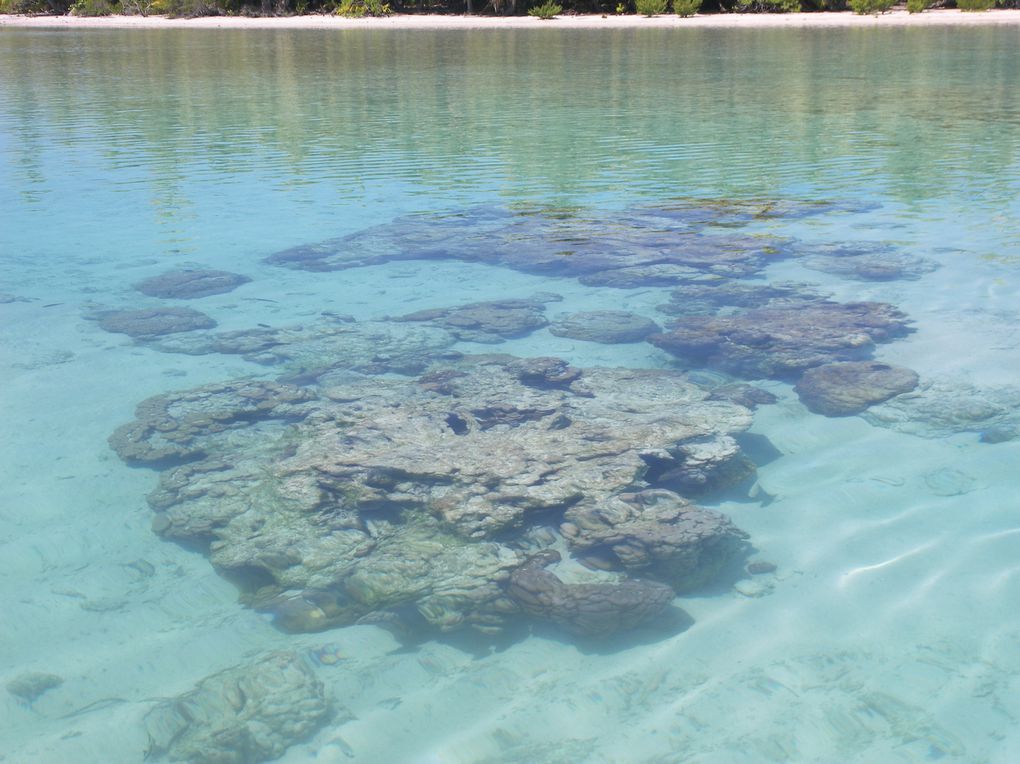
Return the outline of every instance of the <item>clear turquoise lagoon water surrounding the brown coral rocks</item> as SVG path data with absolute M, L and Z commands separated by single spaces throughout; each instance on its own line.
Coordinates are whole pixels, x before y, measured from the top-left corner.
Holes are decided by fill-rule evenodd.
M 0 71 L 0 759 L 142 761 L 159 753 L 165 699 L 273 651 L 296 655 L 334 704 L 285 735 L 273 755 L 286 762 L 1020 758 L 1014 30 L 5 30 Z M 452 352 L 688 370 L 711 388 L 731 364 L 647 342 L 389 319 L 555 293 L 544 320 L 623 310 L 682 324 L 690 314 L 660 310 L 677 282 L 613 288 L 513 258 L 625 259 L 722 237 L 734 239 L 721 252 L 768 250 L 745 286 L 810 283 L 903 311 L 912 330 L 873 357 L 920 387 L 907 404 L 831 417 L 800 401 L 799 372 L 736 371 L 776 398 L 741 440 L 758 470 L 697 501 L 753 549 L 680 595 L 682 628 L 594 645 L 523 616 L 510 619 L 523 633 L 468 645 L 471 629 L 415 626 L 408 640 L 375 622 L 286 632 L 278 607 L 248 607 L 250 570 L 239 580 L 210 564 L 233 547 L 153 532 L 154 516 L 165 528 L 146 498 L 173 465 L 130 466 L 108 445 L 150 396 L 280 376 L 326 395 L 367 374 L 397 403 L 429 364 L 460 363 Z M 309 246 L 327 268 L 273 257 Z M 860 252 L 903 267 L 848 272 Z M 136 288 L 210 268 L 251 281 L 194 299 Z M 370 339 L 355 363 L 366 341 L 351 329 L 328 352 L 276 337 L 290 349 L 269 363 L 187 346 L 210 332 L 103 328 L 112 311 L 167 306 L 205 313 L 215 333 L 414 330 L 427 353 L 396 368 L 397 351 Z M 230 430 L 218 456 L 291 464 L 259 444 L 307 430 L 260 426 Z M 484 441 L 494 458 L 510 448 L 502 432 Z M 213 506 L 233 506 L 242 482 Z M 531 523 L 567 557 L 557 574 L 617 575 L 571 563 L 562 519 Z M 255 533 L 256 549 L 273 532 Z M 748 561 L 776 567 L 741 572 Z M 27 690 L 32 672 L 61 681 Z M 237 761 L 266 758 L 242 737 L 224 744 Z

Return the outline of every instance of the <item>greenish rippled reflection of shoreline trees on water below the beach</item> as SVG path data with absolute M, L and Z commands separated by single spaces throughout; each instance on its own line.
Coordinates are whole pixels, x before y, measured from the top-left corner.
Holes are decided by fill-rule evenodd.
M 1011 42 L 992 29 L 692 31 L 682 45 L 664 30 L 13 35 L 0 87 L 19 133 L 51 124 L 46 140 L 99 143 L 112 166 L 141 159 L 164 182 L 268 162 L 352 198 L 381 171 L 565 200 L 824 180 L 920 203 L 1006 189 Z M 28 144 L 11 150 L 31 162 Z

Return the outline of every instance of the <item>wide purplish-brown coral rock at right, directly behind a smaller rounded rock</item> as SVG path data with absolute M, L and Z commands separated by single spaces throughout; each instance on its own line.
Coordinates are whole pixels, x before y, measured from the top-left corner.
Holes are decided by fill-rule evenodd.
M 813 366 L 863 360 L 909 332 L 887 303 L 828 300 L 732 315 L 688 316 L 649 342 L 687 362 L 750 378 L 786 378 Z

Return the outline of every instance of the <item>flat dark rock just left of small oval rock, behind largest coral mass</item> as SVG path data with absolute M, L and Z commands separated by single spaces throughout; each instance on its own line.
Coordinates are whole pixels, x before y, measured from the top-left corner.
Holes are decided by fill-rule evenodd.
M 458 340 L 494 343 L 524 337 L 545 326 L 546 303 L 562 300 L 559 295 L 536 295 L 529 299 L 490 300 L 454 308 L 431 308 L 395 318 L 397 321 L 427 321 L 442 326 Z

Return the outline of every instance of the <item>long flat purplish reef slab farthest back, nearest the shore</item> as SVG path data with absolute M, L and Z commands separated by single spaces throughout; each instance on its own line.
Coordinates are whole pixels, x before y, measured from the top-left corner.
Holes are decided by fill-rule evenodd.
M 267 262 L 326 271 L 402 260 L 462 260 L 632 289 L 753 275 L 780 255 L 777 240 L 707 233 L 694 217 L 698 215 L 685 219 L 678 210 L 672 215 L 639 210 L 585 216 L 479 207 L 399 218 L 285 250 Z

